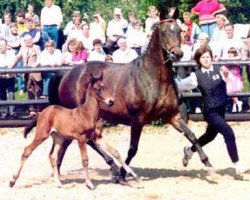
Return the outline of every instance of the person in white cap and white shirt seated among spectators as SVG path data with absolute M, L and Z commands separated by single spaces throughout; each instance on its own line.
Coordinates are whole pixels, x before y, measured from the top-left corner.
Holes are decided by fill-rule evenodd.
M 128 26 L 128 21 L 122 17 L 120 8 L 114 9 L 114 18 L 108 22 L 107 27 L 107 43 L 105 49 L 112 54 L 115 50 L 115 45 L 120 37 L 125 36 L 125 31 Z

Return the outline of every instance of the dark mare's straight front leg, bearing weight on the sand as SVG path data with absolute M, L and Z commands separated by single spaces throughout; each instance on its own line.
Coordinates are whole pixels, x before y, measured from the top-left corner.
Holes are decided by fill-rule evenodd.
M 130 137 L 130 146 L 128 150 L 128 156 L 125 160 L 125 163 L 129 165 L 133 157 L 136 155 L 139 145 L 139 140 L 141 137 L 143 124 L 141 123 L 133 123 L 131 125 L 131 137 Z M 125 180 L 126 171 L 124 168 L 121 168 L 121 179 Z

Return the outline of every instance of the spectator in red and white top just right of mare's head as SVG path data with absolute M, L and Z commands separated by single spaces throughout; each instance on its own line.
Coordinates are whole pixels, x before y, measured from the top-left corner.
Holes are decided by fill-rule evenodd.
M 188 43 L 194 44 L 201 33 L 200 27 L 191 20 L 191 13 L 184 12 L 183 13 L 183 20 L 184 23 L 188 27 L 187 36 L 188 36 Z

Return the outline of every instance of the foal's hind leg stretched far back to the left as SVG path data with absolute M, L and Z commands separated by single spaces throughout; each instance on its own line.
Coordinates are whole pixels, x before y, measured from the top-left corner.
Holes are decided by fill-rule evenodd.
M 24 162 L 28 159 L 28 157 L 30 156 L 30 154 L 38 147 L 38 145 L 42 144 L 42 142 L 49 137 L 49 135 L 47 133 L 41 134 L 41 135 L 39 135 L 39 133 L 42 133 L 42 132 L 40 132 L 39 130 L 37 130 L 35 138 L 32 141 L 32 143 L 29 146 L 27 146 L 27 147 L 24 148 L 24 152 L 23 152 L 22 157 L 21 157 L 21 163 L 20 163 L 19 169 L 13 175 L 13 179 L 9 183 L 10 187 L 13 187 L 15 185 L 16 180 L 20 176 L 20 173 L 21 173 L 21 170 L 23 168 Z

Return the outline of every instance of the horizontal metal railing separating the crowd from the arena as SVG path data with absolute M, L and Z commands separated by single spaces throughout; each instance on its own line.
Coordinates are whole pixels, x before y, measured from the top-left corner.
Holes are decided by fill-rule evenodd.
M 237 64 L 237 65 L 248 65 L 250 67 L 250 60 L 241 61 L 241 60 L 225 60 L 213 63 L 216 65 L 230 65 L 230 64 Z M 190 67 L 196 66 L 194 61 L 181 61 L 181 62 L 174 62 L 173 67 Z M 72 66 L 61 66 L 61 67 L 50 67 L 50 66 L 40 66 L 36 68 L 31 67 L 22 67 L 22 68 L 0 68 L 0 74 L 3 73 L 31 73 L 31 72 L 58 72 L 61 70 L 70 70 Z M 200 98 L 200 93 L 190 93 L 184 92 L 180 94 L 182 98 L 185 99 L 192 99 L 192 98 Z M 238 96 L 238 97 L 250 97 L 250 92 L 241 92 L 237 94 L 229 94 L 229 96 Z M 17 105 L 17 106 L 25 106 L 25 105 L 43 105 L 46 106 L 49 104 L 47 99 L 37 99 L 37 100 L 6 100 L 0 101 L 0 106 L 7 106 L 7 105 Z M 188 114 L 189 118 L 195 121 L 202 121 L 203 116 L 202 114 Z M 227 113 L 226 120 L 228 121 L 250 121 L 250 113 L 242 112 L 242 113 Z M 0 119 L 0 127 L 20 127 L 25 126 L 31 121 L 28 117 L 21 117 L 18 119 Z

